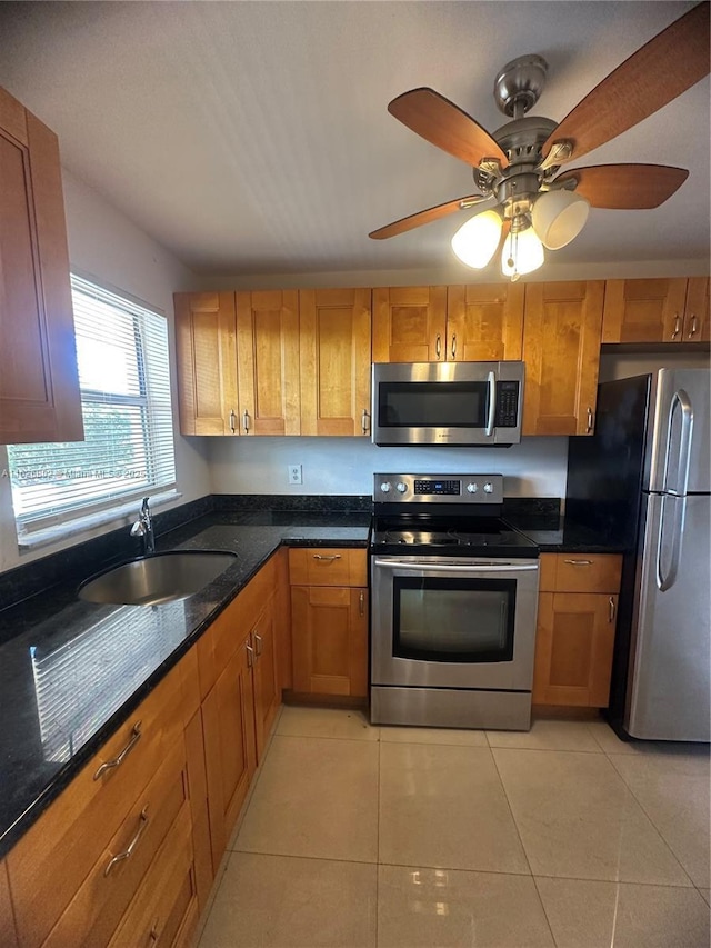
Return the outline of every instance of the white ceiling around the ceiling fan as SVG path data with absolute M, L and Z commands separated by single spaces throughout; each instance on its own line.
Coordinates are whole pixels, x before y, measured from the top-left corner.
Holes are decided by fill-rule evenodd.
M 471 170 L 387 111 L 431 86 L 493 131 L 497 71 L 549 64 L 533 113 L 560 121 L 693 2 L 2 2 L 0 84 L 62 161 L 199 273 L 449 266 L 459 212 L 368 232 L 471 193 Z M 657 210 L 592 210 L 567 263 L 709 256 L 709 80 L 580 164 L 690 177 Z M 574 167 L 574 162 L 572 166 Z M 493 266 L 493 265 L 492 265 Z M 467 271 L 471 275 L 472 271 Z

